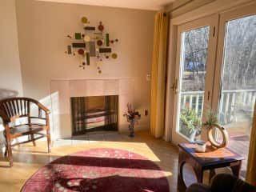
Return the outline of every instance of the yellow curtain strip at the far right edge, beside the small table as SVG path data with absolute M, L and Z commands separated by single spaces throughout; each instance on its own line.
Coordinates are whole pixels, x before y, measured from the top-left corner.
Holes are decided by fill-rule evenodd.
M 247 164 L 246 181 L 256 186 L 256 102 L 254 105 L 254 120 L 250 134 L 250 150 Z

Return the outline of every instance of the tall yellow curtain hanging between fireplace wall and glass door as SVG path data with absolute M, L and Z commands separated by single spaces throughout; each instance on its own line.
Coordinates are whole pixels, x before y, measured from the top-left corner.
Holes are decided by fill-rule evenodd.
M 155 138 L 160 138 L 164 134 L 168 20 L 165 13 L 155 14 L 150 110 L 150 130 Z

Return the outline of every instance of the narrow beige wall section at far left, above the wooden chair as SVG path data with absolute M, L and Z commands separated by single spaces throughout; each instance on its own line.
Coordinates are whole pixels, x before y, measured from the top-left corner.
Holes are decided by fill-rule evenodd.
M 22 95 L 14 0 L 0 1 L 0 99 Z M 4 130 L 0 119 L 0 149 Z M 1 153 L 1 151 L 0 151 Z

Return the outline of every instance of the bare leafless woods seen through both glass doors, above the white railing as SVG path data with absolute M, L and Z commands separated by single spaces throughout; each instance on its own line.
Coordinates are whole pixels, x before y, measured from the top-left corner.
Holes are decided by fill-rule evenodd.
M 204 90 L 209 26 L 184 33 L 182 90 Z M 256 16 L 227 22 L 223 90 L 256 89 Z

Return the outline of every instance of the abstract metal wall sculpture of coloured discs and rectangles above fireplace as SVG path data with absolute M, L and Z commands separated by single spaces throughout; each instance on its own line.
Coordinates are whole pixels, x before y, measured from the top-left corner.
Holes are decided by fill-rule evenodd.
M 118 54 L 113 52 L 113 46 L 118 42 L 118 38 L 110 39 L 110 34 L 106 33 L 102 22 L 98 27 L 90 26 L 88 18 L 82 17 L 83 33 L 76 32 L 74 35 L 67 35 L 67 38 L 73 40 L 67 46 L 66 54 L 79 55 L 82 62 L 79 67 L 83 70 L 90 66 L 90 58 L 96 58 L 96 67 L 98 74 L 102 74 L 103 59 L 116 59 Z

